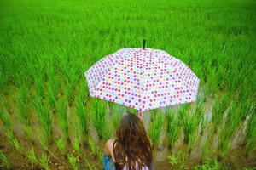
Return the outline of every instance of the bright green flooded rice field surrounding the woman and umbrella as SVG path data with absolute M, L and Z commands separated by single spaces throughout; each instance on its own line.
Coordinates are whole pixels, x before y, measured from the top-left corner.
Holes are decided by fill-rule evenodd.
M 160 48 L 201 79 L 197 101 L 144 113 L 155 169 L 256 167 L 253 0 L 0 1 L 0 169 L 102 169 L 125 111 L 84 71 Z

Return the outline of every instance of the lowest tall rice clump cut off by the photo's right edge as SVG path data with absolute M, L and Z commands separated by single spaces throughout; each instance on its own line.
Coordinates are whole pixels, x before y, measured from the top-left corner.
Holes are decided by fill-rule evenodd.
M 255 112 L 254 112 L 255 113 Z M 248 156 L 253 150 L 256 150 L 256 116 L 251 114 L 247 122 L 246 130 L 246 156 Z

